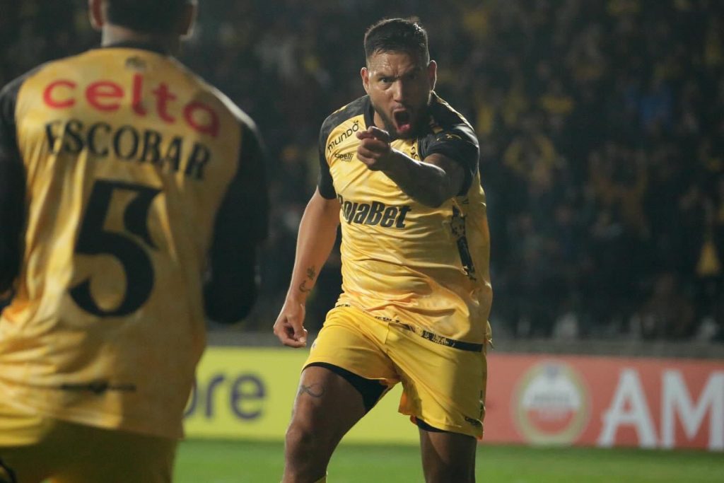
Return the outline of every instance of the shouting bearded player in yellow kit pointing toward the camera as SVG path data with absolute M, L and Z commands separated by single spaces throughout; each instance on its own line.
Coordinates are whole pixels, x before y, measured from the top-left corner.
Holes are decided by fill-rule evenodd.
M 482 436 L 489 234 L 473 129 L 434 93 L 416 22 L 364 38 L 367 95 L 321 127 L 321 174 L 274 333 L 306 345 L 304 307 L 342 224 L 342 295 L 304 366 L 284 482 L 324 482 L 342 436 L 402 382 L 427 482 L 473 482 Z

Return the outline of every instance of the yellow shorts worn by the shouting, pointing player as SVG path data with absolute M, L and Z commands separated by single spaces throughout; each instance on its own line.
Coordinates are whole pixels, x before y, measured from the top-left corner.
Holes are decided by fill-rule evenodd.
M 455 345 L 451 347 L 450 344 Z M 484 345 L 459 343 L 350 306 L 327 314 L 308 364 L 340 366 L 392 387 L 400 413 L 445 431 L 481 438 L 487 363 Z

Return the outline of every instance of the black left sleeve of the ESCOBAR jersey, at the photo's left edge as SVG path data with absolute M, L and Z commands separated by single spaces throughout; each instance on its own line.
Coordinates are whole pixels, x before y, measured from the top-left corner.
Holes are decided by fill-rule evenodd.
M 20 271 L 25 223 L 25 167 L 17 147 L 15 105 L 25 77 L 0 91 L 0 295 Z

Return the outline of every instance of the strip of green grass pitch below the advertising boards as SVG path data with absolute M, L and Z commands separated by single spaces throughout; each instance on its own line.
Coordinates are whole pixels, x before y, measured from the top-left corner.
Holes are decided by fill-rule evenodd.
M 190 440 L 179 447 L 177 483 L 277 483 L 281 442 Z M 724 455 L 694 451 L 481 446 L 480 483 L 707 483 L 724 481 Z M 345 445 L 330 483 L 423 482 L 414 446 Z

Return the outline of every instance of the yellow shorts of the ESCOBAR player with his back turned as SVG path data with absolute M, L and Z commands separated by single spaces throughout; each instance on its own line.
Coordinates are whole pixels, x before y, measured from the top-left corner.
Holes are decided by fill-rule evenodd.
M 0 483 L 170 483 L 176 440 L 46 418 L 0 401 Z

